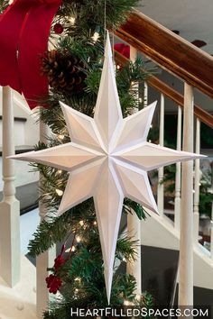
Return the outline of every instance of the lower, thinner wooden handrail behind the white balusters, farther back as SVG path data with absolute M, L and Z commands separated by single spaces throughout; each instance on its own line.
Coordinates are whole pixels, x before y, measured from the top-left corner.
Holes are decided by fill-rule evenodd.
M 117 51 L 115 51 L 115 59 L 116 63 L 122 66 L 125 66 L 130 61 Z M 181 95 L 181 93 L 175 91 L 172 87 L 162 82 L 162 80 L 160 80 L 159 78 L 154 76 L 149 77 L 147 79 L 147 83 L 149 86 L 154 87 L 155 89 L 160 91 L 164 96 L 170 98 L 171 101 L 175 102 L 176 105 L 184 107 L 184 97 Z M 207 124 L 210 128 L 213 129 L 213 115 L 203 110 L 199 105 L 194 105 L 194 114 L 199 118 L 201 122 Z

